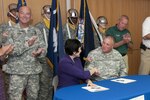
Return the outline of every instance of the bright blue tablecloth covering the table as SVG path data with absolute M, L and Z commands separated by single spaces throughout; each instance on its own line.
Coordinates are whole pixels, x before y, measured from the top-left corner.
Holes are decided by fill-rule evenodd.
M 129 100 L 136 96 L 144 95 L 145 100 L 150 100 L 150 76 L 136 75 L 124 78 L 134 79 L 136 82 L 121 84 L 110 80 L 95 82 L 95 84 L 109 88 L 101 92 L 89 92 L 81 87 L 86 84 L 74 85 L 58 89 L 54 100 Z

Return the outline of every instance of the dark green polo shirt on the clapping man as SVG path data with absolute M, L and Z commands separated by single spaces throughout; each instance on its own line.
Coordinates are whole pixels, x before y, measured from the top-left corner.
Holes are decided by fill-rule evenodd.
M 110 36 L 114 37 L 115 42 L 121 41 L 123 39 L 123 35 L 126 33 L 130 33 L 130 32 L 127 29 L 120 31 L 117 28 L 117 26 L 110 27 L 106 31 L 106 35 L 110 35 Z M 127 54 L 127 51 L 128 51 L 128 44 L 121 45 L 115 49 L 117 51 L 119 51 L 121 53 L 121 55 L 125 55 L 125 54 Z

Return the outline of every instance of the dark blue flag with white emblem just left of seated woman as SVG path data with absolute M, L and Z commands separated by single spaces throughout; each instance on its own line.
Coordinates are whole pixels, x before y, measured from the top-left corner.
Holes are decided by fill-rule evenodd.
M 52 13 L 48 37 L 47 57 L 52 63 L 54 75 L 57 75 L 59 59 L 64 55 L 62 20 L 58 0 L 52 0 Z M 59 9 L 58 9 L 59 8 Z

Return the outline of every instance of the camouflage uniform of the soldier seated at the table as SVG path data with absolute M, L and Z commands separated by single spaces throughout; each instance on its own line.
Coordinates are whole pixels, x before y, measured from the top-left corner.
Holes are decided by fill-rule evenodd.
M 101 47 L 91 51 L 88 57 L 92 58 L 92 62 L 86 62 L 85 69 L 97 67 L 99 75 L 92 76 L 93 81 L 117 78 L 127 75 L 127 67 L 121 54 L 113 49 L 109 53 L 103 53 Z

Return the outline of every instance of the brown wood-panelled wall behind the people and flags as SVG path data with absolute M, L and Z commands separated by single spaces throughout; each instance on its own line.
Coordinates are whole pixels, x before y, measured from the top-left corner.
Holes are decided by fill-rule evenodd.
M 31 7 L 33 23 L 41 20 L 41 8 L 45 4 L 50 4 L 51 0 L 26 0 Z M 79 10 L 80 0 L 70 0 L 71 7 Z M 125 14 L 130 18 L 129 30 L 132 35 L 134 47 L 129 50 L 129 74 L 137 74 L 140 64 L 140 42 L 141 25 L 143 20 L 150 15 L 150 0 L 87 0 L 89 9 L 96 19 L 100 15 L 108 18 L 109 26 L 115 25 L 120 15 Z M 7 22 L 7 5 L 17 0 L 0 0 L 0 23 Z M 63 23 L 66 22 L 66 0 L 60 0 Z

